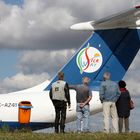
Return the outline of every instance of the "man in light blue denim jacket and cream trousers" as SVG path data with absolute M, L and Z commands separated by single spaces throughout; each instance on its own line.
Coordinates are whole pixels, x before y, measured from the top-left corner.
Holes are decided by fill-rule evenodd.
M 120 91 L 117 83 L 110 80 L 111 74 L 104 73 L 104 81 L 100 87 L 100 100 L 103 103 L 103 116 L 104 116 L 104 132 L 110 132 L 110 117 L 112 119 L 113 132 L 118 133 L 118 114 L 116 109 L 116 102 L 120 96 Z

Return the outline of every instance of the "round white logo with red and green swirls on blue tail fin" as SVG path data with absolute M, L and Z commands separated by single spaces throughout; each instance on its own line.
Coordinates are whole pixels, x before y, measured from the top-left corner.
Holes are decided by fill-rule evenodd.
M 81 74 L 83 72 L 93 73 L 102 66 L 103 57 L 98 49 L 88 43 L 87 47 L 78 53 L 76 62 Z

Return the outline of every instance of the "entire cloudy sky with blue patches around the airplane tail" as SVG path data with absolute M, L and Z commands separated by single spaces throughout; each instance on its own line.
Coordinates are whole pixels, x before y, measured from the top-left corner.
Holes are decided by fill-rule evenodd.
M 91 21 L 140 5 L 140 0 L 0 0 L 0 93 L 50 79 L 88 38 L 71 31 Z M 139 93 L 140 53 L 125 79 Z

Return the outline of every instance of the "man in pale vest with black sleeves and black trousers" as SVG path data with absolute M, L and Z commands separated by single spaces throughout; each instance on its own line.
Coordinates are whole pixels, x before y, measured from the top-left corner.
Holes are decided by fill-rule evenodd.
M 58 73 L 58 81 L 52 84 L 50 99 L 55 108 L 55 133 L 64 133 L 67 103 L 70 108 L 69 86 L 64 81 L 64 73 Z M 59 127 L 60 124 L 60 127 Z

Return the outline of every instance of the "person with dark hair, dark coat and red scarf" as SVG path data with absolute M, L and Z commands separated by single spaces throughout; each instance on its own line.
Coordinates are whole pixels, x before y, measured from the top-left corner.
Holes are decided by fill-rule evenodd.
M 118 99 L 116 106 L 119 116 L 119 132 L 122 132 L 123 124 L 125 126 L 125 132 L 129 132 L 129 116 L 130 116 L 130 101 L 131 97 L 129 91 L 126 89 L 125 81 L 119 83 L 121 96 Z

